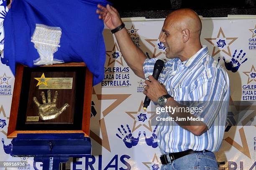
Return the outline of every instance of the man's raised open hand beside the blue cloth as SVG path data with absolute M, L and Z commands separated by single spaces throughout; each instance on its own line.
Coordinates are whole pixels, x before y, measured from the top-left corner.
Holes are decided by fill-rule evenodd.
M 109 4 L 107 7 L 103 7 L 102 5 L 97 5 L 99 9 L 96 10 L 96 13 L 99 14 L 99 18 L 102 19 L 105 25 L 110 29 L 113 30 L 121 25 L 122 21 L 118 11 L 110 6 Z

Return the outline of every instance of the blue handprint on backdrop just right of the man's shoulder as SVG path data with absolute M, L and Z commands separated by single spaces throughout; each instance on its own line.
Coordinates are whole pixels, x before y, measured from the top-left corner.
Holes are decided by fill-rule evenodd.
M 237 72 L 237 70 L 239 69 L 239 67 L 241 66 L 241 64 L 243 64 L 244 62 L 247 61 L 247 58 L 245 58 L 243 60 L 243 62 L 241 62 L 241 60 L 243 59 L 243 57 L 246 55 L 246 53 L 244 52 L 242 57 L 240 57 L 241 53 L 243 52 L 243 50 L 240 50 L 239 54 L 236 56 L 236 52 L 237 50 L 235 50 L 233 56 L 232 56 L 232 59 L 231 61 L 227 61 L 225 59 L 225 57 L 222 57 L 223 58 L 223 61 L 225 63 L 225 67 L 227 70 L 231 70 L 232 72 Z M 236 57 L 235 57 L 236 56 Z M 218 57 L 218 62 L 220 62 L 220 57 Z M 241 62 L 241 64 L 240 64 Z

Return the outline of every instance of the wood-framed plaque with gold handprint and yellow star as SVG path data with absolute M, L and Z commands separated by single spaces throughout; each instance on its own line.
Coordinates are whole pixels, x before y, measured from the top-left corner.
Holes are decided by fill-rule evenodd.
M 17 65 L 8 138 L 90 131 L 92 73 L 84 63 Z

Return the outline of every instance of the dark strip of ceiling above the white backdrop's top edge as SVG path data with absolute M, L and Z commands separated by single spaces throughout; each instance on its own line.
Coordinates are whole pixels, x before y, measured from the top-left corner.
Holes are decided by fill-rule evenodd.
M 256 0 L 109 0 L 121 17 L 165 18 L 179 8 L 192 8 L 203 17 L 256 15 Z

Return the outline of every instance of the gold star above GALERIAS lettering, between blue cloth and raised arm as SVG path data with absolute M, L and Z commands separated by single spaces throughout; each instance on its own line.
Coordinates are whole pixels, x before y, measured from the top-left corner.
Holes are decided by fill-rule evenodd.
M 109 57 L 108 66 L 110 66 L 115 61 L 123 66 L 123 57 L 116 42 L 111 51 L 106 51 L 106 55 Z

